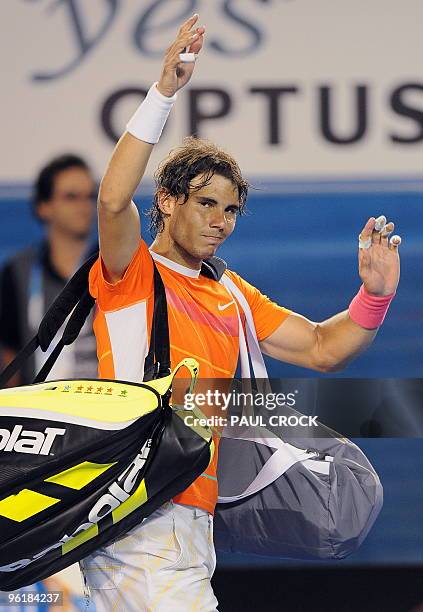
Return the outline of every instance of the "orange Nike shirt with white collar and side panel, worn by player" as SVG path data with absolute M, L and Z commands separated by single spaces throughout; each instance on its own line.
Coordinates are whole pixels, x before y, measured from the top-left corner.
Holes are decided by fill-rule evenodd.
M 171 367 L 184 357 L 200 364 L 201 378 L 233 378 L 239 353 L 239 323 L 234 298 L 225 287 L 199 271 L 151 253 L 166 288 Z M 97 260 L 90 271 L 90 293 L 97 301 L 94 332 L 100 378 L 142 382 L 153 315 L 153 263 L 140 245 L 123 278 L 109 283 Z M 244 294 L 257 338 L 264 340 L 290 311 L 278 306 L 240 276 L 227 270 Z M 244 315 L 238 305 L 241 320 Z M 182 374 L 183 377 L 183 374 Z M 217 501 L 216 451 L 207 470 L 174 501 L 214 512 Z

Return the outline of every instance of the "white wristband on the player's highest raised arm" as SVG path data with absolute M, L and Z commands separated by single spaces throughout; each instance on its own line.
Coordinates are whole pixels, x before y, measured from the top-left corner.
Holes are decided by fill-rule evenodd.
M 128 121 L 127 131 L 139 140 L 156 144 L 159 142 L 175 100 L 176 93 L 168 98 L 157 89 L 157 82 L 153 83 L 146 97 Z

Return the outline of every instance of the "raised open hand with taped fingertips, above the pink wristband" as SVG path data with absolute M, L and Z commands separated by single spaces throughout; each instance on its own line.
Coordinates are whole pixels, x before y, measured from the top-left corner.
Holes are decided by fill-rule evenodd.
M 368 293 L 390 295 L 397 289 L 400 277 L 399 236 L 389 236 L 394 224 L 382 215 L 371 217 L 359 236 L 358 269 Z

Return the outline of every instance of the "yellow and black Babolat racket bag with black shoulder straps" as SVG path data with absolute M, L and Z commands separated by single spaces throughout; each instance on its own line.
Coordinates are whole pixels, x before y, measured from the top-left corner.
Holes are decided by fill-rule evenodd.
M 86 292 L 92 263 L 68 283 L 0 384 L 34 347 L 48 348 L 73 310 L 37 380 L 47 376 L 93 304 Z M 166 299 L 156 269 L 154 296 L 150 380 L 64 380 L 0 391 L 0 589 L 42 580 L 111 543 L 207 468 L 211 431 L 188 427 L 186 413 L 169 404 L 177 370 L 188 368 L 192 390 L 198 364 L 187 358 L 169 373 Z

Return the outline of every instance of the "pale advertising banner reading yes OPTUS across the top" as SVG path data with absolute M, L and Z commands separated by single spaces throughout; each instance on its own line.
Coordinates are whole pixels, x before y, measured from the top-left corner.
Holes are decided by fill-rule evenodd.
M 0 7 L 0 183 L 64 150 L 102 173 L 193 12 L 205 47 L 157 160 L 194 133 L 250 176 L 421 178 L 420 0 L 16 0 Z

